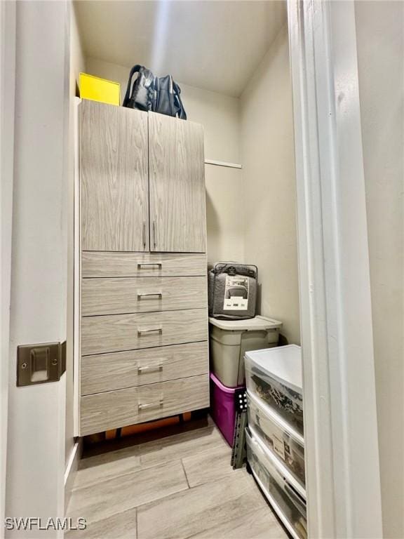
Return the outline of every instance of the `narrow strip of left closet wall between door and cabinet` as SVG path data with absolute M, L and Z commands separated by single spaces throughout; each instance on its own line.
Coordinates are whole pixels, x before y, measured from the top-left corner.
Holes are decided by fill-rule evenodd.
M 86 61 L 83 55 L 83 47 L 77 25 L 74 5 L 69 3 L 70 9 L 70 65 L 69 65 L 69 156 L 68 156 L 68 291 L 67 291 L 67 350 L 66 350 L 66 438 L 65 438 L 65 463 L 74 447 L 74 387 L 73 387 L 73 277 L 74 277 L 74 107 L 72 99 L 76 95 L 76 85 L 79 81 L 79 73 L 86 71 Z

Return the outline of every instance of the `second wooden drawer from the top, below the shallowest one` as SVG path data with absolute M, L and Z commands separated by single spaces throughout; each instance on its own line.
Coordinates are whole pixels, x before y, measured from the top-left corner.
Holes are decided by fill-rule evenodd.
M 203 309 L 206 277 L 121 277 L 82 279 L 81 314 Z

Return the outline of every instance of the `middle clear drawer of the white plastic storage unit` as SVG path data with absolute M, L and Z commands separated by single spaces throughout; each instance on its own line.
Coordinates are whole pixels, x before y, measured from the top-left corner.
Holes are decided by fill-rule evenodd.
M 304 439 L 281 415 L 263 401 L 247 394 L 248 425 L 299 483 L 305 485 Z

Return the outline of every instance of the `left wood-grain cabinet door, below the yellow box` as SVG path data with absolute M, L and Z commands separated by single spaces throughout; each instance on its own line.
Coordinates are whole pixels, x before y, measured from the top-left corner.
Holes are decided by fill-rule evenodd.
M 83 100 L 81 249 L 149 251 L 147 113 Z

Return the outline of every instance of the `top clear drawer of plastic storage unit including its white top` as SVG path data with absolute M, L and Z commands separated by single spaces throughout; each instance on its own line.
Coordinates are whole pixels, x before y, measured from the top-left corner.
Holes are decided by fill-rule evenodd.
M 245 353 L 250 394 L 262 399 L 303 436 L 302 354 L 297 345 Z

